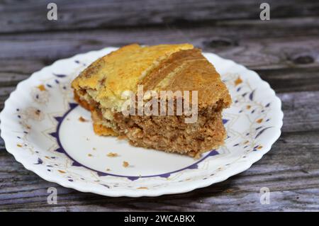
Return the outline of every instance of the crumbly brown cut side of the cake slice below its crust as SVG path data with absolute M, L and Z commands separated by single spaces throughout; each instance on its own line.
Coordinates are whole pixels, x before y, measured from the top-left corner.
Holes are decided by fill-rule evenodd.
M 84 108 L 89 105 L 84 100 L 78 103 Z M 199 157 L 199 154 L 223 145 L 226 136 L 221 118 L 223 106 L 223 101 L 218 101 L 209 108 L 201 108 L 196 123 L 184 123 L 184 115 L 140 116 L 113 112 L 113 129 L 107 126 L 110 121 L 103 118 L 98 107 L 90 108 L 90 111 L 97 135 L 120 135 L 134 146 Z

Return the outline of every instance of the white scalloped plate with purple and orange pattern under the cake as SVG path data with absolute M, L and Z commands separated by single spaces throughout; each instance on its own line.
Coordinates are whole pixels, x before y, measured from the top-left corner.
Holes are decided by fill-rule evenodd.
M 98 57 L 87 52 L 58 60 L 18 84 L 1 112 L 6 149 L 47 181 L 103 196 L 184 193 L 239 174 L 262 158 L 281 133 L 281 101 L 258 74 L 204 53 L 227 84 L 233 105 L 223 113 L 225 146 L 192 159 L 94 135 L 90 114 L 73 101 L 70 82 Z M 89 121 L 81 122 L 79 117 Z M 113 152 L 118 157 L 108 157 Z M 123 162 L 129 166 L 124 167 Z

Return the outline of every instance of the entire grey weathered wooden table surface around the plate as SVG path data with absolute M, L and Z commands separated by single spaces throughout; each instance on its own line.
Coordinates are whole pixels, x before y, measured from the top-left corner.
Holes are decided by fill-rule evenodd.
M 282 135 L 250 169 L 189 193 L 108 198 L 49 183 L 0 141 L 0 211 L 319 210 L 319 1 L 0 1 L 0 108 L 19 81 L 55 60 L 128 43 L 192 43 L 256 71 L 281 98 Z M 57 205 L 47 204 L 55 186 Z M 270 204 L 259 202 L 268 187 Z

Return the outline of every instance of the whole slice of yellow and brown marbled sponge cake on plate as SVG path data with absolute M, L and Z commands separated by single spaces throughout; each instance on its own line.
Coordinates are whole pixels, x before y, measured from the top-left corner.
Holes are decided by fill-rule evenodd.
M 198 115 L 125 115 L 123 91 L 198 91 Z M 99 58 L 72 81 L 74 99 L 91 111 L 97 135 L 124 137 L 131 145 L 188 154 L 223 145 L 221 113 L 231 98 L 213 65 L 190 44 L 127 45 Z M 176 100 L 175 100 L 176 101 Z

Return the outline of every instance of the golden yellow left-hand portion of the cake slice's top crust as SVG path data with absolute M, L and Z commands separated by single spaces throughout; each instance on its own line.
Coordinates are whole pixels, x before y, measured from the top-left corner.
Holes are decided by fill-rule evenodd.
M 91 96 L 105 108 L 121 111 L 123 91 L 136 91 L 142 77 L 173 52 L 192 49 L 191 44 L 141 47 L 126 45 L 99 58 L 72 81 L 76 90 L 89 89 Z

